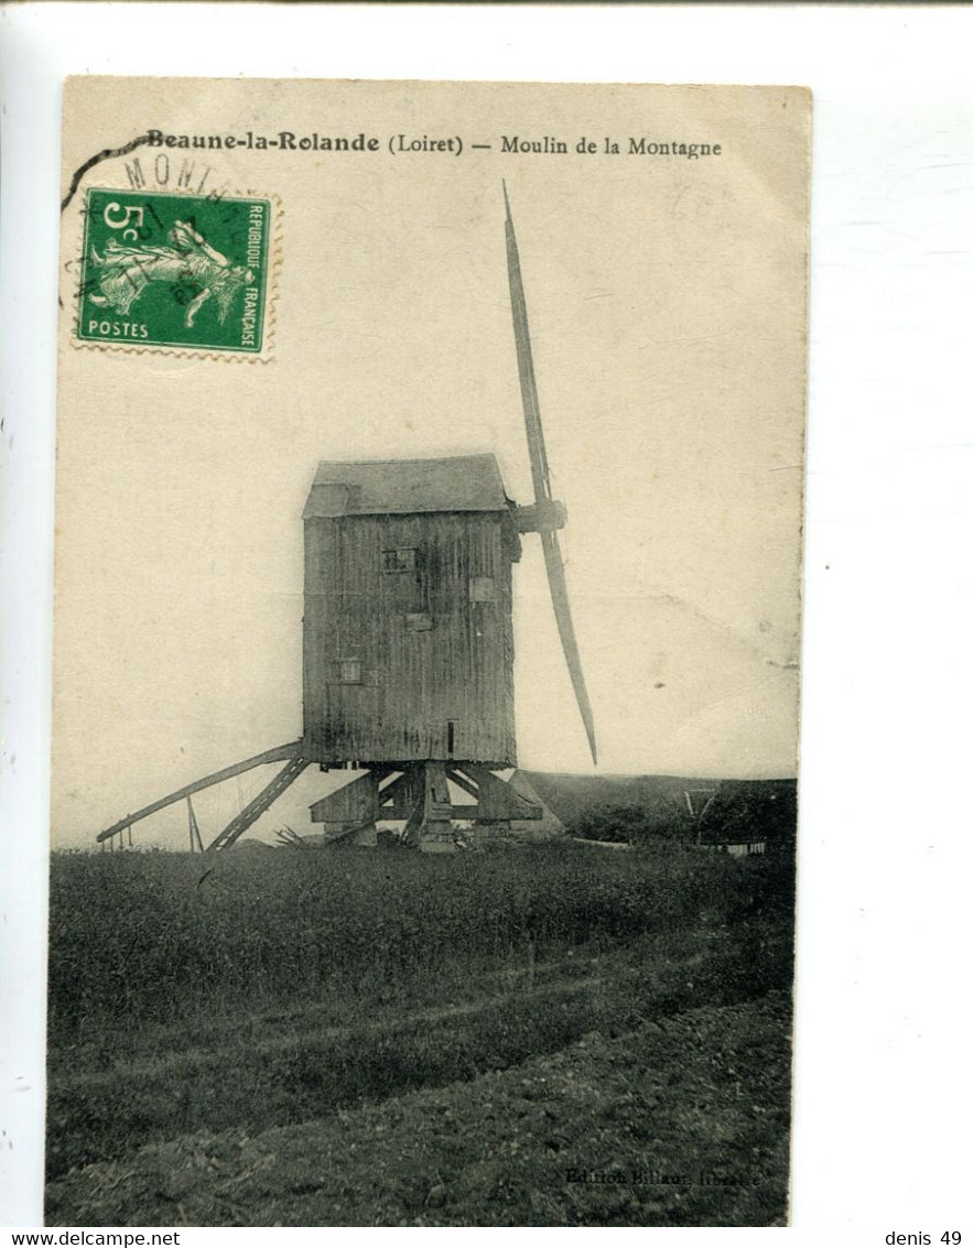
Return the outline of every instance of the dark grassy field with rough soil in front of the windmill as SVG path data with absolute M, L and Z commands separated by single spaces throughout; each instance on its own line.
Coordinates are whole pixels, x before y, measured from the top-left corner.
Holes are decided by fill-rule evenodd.
M 678 845 L 57 855 L 49 1223 L 779 1223 L 792 926 Z

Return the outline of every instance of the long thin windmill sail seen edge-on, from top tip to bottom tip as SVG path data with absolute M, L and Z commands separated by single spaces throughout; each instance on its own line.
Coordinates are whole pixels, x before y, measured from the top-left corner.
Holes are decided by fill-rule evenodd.
M 571 675 L 571 684 L 575 686 L 581 719 L 591 748 L 593 763 L 598 761 L 598 753 L 595 744 L 595 716 L 588 700 L 588 691 L 585 685 L 585 674 L 581 669 L 581 654 L 578 653 L 577 638 L 575 635 L 575 623 L 571 618 L 571 604 L 567 597 L 567 580 L 565 578 L 565 562 L 561 558 L 561 545 L 557 540 L 556 525 L 546 517 L 551 515 L 551 470 L 547 464 L 547 448 L 543 441 L 543 427 L 541 424 L 541 408 L 537 401 L 537 379 L 533 372 L 533 352 L 531 351 L 531 333 L 527 324 L 527 301 L 523 295 L 523 278 L 521 277 L 520 252 L 517 251 L 517 238 L 513 233 L 513 218 L 510 212 L 510 198 L 506 183 L 503 186 L 503 202 L 507 210 L 507 272 L 510 276 L 510 302 L 513 313 L 513 341 L 517 347 L 517 371 L 521 379 L 521 399 L 523 401 L 523 419 L 527 428 L 527 448 L 531 457 L 531 475 L 533 478 L 533 494 L 537 504 L 538 528 L 541 533 L 541 545 L 543 547 L 545 567 L 547 568 L 547 583 L 551 587 L 551 602 L 555 607 L 555 619 L 557 631 L 561 635 L 561 648 L 565 651 L 567 670 Z M 546 504 L 548 504 L 546 507 Z

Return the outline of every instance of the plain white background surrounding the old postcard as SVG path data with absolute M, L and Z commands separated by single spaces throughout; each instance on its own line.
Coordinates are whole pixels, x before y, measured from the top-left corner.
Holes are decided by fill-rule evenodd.
M 40 1223 L 60 81 L 90 71 L 813 89 L 793 1233 L 973 1236 L 973 12 L 45 4 L 0 32 L 2 1222 Z

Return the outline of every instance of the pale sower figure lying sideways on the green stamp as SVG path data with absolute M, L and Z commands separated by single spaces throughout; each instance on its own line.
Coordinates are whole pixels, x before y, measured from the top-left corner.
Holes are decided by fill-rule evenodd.
M 100 270 L 101 293 L 91 295 L 91 302 L 97 307 L 111 307 L 124 316 L 150 282 L 171 282 L 196 292 L 186 306 L 186 328 L 191 328 L 196 313 L 210 296 L 216 297 L 222 323 L 236 292 L 254 282 L 252 270 L 231 263 L 185 221 L 175 222 L 169 231 L 169 241 L 171 247 L 127 247 L 112 238 L 101 256 L 92 247 L 91 258 Z

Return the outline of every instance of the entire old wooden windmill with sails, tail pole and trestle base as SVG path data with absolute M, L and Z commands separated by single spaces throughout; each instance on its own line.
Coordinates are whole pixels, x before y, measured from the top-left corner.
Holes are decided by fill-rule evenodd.
M 362 844 L 375 844 L 378 821 L 405 821 L 405 842 L 435 852 L 453 847 L 455 819 L 542 817 L 495 774 L 517 761 L 512 565 L 525 533 L 540 535 L 597 761 L 557 538 L 566 509 L 551 493 L 508 201 L 506 237 L 533 502 L 507 497 L 491 454 L 320 464 L 304 512 L 304 736 L 126 815 L 100 841 L 131 836 L 132 822 L 182 799 L 192 829 L 194 792 L 272 761 L 285 766 L 210 850 L 232 845 L 312 763 L 363 771 L 311 807 L 326 831 Z

